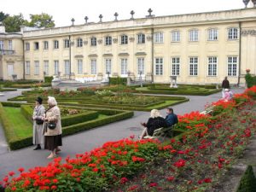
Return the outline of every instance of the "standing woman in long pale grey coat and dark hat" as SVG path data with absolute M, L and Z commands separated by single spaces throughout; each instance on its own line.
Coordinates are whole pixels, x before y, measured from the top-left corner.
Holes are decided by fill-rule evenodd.
M 33 144 L 37 145 L 34 150 L 41 149 L 41 144 L 44 143 L 44 106 L 43 99 L 38 96 L 36 99 L 36 107 L 32 115 L 33 120 Z

